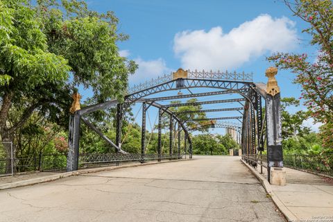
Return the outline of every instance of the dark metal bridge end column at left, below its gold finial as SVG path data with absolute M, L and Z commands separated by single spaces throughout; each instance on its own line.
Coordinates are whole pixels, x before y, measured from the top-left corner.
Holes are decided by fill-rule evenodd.
M 80 114 L 69 117 L 69 137 L 67 154 L 67 172 L 78 170 L 78 145 L 80 141 Z

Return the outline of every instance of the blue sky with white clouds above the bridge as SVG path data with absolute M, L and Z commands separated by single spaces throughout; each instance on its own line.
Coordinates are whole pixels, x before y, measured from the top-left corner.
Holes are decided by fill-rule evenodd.
M 88 6 L 99 12 L 114 11 L 119 32 L 130 36 L 118 44 L 121 55 L 139 65 L 130 85 L 179 67 L 253 72 L 255 82 L 266 83 L 264 71 L 271 66 L 266 56 L 271 53 L 307 53 L 310 60 L 316 56 L 309 37 L 301 33 L 306 24 L 278 0 L 94 0 Z M 277 79 L 282 96 L 300 97 L 293 74 L 279 71 Z M 151 115 L 154 121 L 155 112 Z

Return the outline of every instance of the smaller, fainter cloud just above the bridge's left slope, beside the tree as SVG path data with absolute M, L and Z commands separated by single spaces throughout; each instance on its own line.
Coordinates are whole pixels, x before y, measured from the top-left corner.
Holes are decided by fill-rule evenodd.
M 169 69 L 162 58 L 157 60 L 142 60 L 142 58 L 136 58 L 135 62 L 139 65 L 135 74 L 130 76 L 130 83 L 144 83 L 145 80 L 151 78 L 157 78 L 163 74 L 169 74 Z

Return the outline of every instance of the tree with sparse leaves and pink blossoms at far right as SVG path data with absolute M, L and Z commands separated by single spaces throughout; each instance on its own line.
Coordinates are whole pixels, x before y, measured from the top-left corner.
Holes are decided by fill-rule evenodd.
M 331 0 L 284 0 L 293 14 L 309 26 L 304 33 L 311 37 L 310 44 L 318 48 L 318 56 L 311 62 L 307 54 L 276 53 L 268 58 L 280 69 L 296 74 L 295 83 L 302 85 L 305 105 L 316 121 L 325 123 L 321 128 L 323 146 L 332 147 L 333 117 L 333 7 Z M 327 136 L 329 138 L 327 138 Z

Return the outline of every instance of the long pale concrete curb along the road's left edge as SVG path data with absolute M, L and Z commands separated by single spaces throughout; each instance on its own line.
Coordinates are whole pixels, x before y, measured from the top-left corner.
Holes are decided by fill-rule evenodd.
M 10 182 L 3 185 L 0 185 L 0 190 L 3 189 L 12 189 L 15 187 L 25 187 L 29 185 L 35 185 L 37 183 L 41 182 L 49 182 L 53 180 L 58 180 L 60 178 L 67 178 L 69 176 L 79 176 L 81 174 L 85 173 L 97 173 L 101 171 L 111 171 L 114 169 L 122 169 L 122 168 L 128 168 L 128 167 L 141 167 L 141 166 L 147 166 L 147 165 L 153 165 L 153 164 L 162 164 L 162 163 L 168 163 L 168 162 L 180 162 L 180 161 L 187 161 L 187 160 L 193 160 L 193 159 L 186 159 L 186 160 L 169 160 L 169 161 L 162 161 L 162 162 L 146 162 L 144 164 L 126 164 L 121 166 L 114 166 L 114 167 L 101 167 L 101 168 L 93 168 L 93 169 L 80 169 L 78 171 L 71 171 L 66 173 L 57 173 L 55 175 L 51 176 L 44 176 L 42 178 L 33 178 L 31 180 L 22 180 L 18 182 Z

